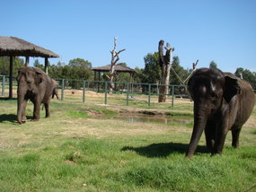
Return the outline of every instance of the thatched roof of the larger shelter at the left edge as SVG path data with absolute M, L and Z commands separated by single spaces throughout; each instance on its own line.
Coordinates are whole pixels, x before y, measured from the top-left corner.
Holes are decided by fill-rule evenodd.
M 52 51 L 36 46 L 23 39 L 0 36 L 0 57 L 3 56 L 59 57 Z

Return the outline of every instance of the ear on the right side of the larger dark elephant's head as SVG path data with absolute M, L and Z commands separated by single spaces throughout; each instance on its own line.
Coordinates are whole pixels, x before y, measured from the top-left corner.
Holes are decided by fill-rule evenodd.
M 227 102 L 232 100 L 234 95 L 239 94 L 241 91 L 238 83 L 238 78 L 234 74 L 225 74 L 225 90 L 224 98 Z

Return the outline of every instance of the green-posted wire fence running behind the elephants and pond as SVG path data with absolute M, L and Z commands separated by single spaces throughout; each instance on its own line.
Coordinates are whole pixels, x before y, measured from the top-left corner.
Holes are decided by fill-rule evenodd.
M 82 103 L 97 103 L 120 106 L 154 106 L 158 105 L 159 90 L 164 84 L 156 83 L 121 83 L 115 82 L 110 93 L 110 82 L 86 81 L 74 79 L 56 79 L 60 100 Z M 9 77 L 0 75 L 1 96 L 7 97 L 9 92 Z M 165 103 L 174 107 L 177 98 L 182 99 L 184 105 L 190 104 L 190 96 L 184 85 L 168 85 Z M 17 82 L 13 79 L 13 97 L 17 97 Z M 187 99 L 187 100 L 184 100 Z

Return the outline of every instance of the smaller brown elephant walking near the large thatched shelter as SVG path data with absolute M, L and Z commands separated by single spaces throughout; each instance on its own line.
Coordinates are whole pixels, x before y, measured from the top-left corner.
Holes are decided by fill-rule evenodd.
M 44 104 L 46 118 L 50 118 L 49 101 L 57 95 L 57 82 L 45 74 L 40 68 L 24 66 L 18 70 L 17 76 L 17 120 L 26 122 L 25 110 L 28 100 L 34 105 L 33 119 L 40 119 L 40 105 Z M 58 97 L 58 96 L 57 96 Z

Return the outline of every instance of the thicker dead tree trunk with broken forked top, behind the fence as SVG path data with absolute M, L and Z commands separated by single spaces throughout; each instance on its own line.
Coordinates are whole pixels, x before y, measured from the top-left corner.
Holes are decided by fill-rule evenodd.
M 167 94 L 169 93 L 169 80 L 170 80 L 170 69 L 172 66 L 172 51 L 174 48 L 171 48 L 171 45 L 169 43 L 166 44 L 165 55 L 163 54 L 163 47 L 164 47 L 164 41 L 160 40 L 158 45 L 158 53 L 159 53 L 159 65 L 161 66 L 162 70 L 162 78 L 161 78 L 161 85 L 159 90 L 159 97 L 158 102 L 165 102 Z

